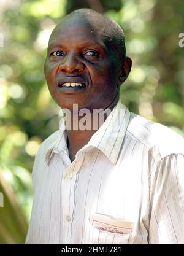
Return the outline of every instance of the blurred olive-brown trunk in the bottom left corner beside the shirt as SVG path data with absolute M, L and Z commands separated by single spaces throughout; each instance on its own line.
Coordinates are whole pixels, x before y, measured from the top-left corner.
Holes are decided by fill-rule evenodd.
M 0 208 L 0 243 L 24 243 L 28 224 L 1 168 L 0 192 L 4 195 L 4 207 Z

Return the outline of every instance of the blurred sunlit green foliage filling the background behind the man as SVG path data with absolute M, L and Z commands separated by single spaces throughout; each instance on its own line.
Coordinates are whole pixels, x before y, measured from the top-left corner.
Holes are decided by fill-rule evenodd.
M 179 0 L 1 0 L 0 6 L 0 172 L 5 180 L 3 186 L 0 180 L 5 193 L 0 242 L 24 242 L 34 156 L 40 143 L 58 129 L 59 107 L 44 78 L 47 42 L 56 23 L 80 7 L 116 20 L 125 31 L 127 55 L 133 61 L 121 88 L 123 103 L 184 136 L 184 48 L 178 46 L 184 8 Z M 7 195 L 6 186 L 13 193 Z M 11 215 L 12 209 L 20 211 L 21 218 Z

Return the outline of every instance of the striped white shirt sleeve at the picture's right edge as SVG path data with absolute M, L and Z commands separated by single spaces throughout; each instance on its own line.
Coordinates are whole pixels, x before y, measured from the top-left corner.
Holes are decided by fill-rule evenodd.
M 184 243 L 184 155 L 164 157 L 152 166 L 149 243 Z

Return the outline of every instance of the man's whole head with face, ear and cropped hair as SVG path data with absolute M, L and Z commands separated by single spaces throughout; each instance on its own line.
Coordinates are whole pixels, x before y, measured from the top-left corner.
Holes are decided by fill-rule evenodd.
M 131 64 L 120 26 L 94 10 L 79 9 L 50 36 L 45 78 L 60 107 L 106 109 L 117 103 Z

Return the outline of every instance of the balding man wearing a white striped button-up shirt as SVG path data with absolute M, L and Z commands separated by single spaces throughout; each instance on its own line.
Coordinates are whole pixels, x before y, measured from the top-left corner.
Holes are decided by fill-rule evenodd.
M 184 242 L 184 140 L 121 103 L 131 65 L 122 29 L 102 14 L 75 10 L 53 30 L 45 78 L 71 115 L 37 153 L 26 242 Z

